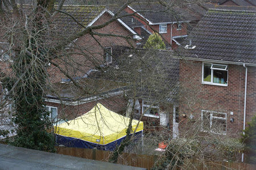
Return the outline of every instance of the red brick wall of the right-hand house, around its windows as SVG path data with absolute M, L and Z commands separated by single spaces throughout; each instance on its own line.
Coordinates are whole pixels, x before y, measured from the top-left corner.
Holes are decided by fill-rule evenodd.
M 247 66 L 246 123 L 256 113 L 256 68 Z M 180 113 L 201 116 L 201 109 L 223 112 L 227 115 L 227 134 L 239 135 L 243 129 L 245 68 L 228 65 L 228 86 L 201 84 L 202 62 L 180 62 L 180 83 L 183 86 Z M 189 101 L 189 99 L 191 99 Z M 233 115 L 230 115 L 233 112 Z M 234 118 L 234 122 L 230 122 Z

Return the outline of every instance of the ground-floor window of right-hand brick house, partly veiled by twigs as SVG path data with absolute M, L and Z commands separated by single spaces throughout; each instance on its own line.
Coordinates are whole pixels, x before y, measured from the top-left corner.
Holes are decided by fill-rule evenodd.
M 217 134 L 226 134 L 226 113 L 202 111 L 201 129 Z

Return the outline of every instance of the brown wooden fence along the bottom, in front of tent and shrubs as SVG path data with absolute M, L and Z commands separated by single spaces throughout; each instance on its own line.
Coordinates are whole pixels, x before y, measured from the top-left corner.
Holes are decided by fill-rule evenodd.
M 57 154 L 76 156 L 79 158 L 100 160 L 108 162 L 109 157 L 113 152 L 93 150 L 86 148 L 73 148 L 73 147 L 56 147 Z M 140 154 L 129 154 L 123 153 L 118 158 L 118 164 L 130 165 L 133 167 L 141 167 L 151 169 L 154 166 L 156 160 L 156 155 L 140 155 Z M 199 161 L 191 161 L 190 165 L 181 167 L 179 169 L 198 169 L 198 170 L 228 170 L 228 169 L 238 169 L 238 170 L 254 170 L 256 169 L 256 164 L 246 164 L 246 163 L 231 163 L 231 162 L 208 162 L 201 163 Z

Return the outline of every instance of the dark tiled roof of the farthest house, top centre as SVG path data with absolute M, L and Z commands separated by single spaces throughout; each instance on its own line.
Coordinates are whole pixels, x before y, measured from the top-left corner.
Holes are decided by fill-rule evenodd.
M 188 13 L 181 8 L 172 8 L 168 10 L 163 5 L 157 2 L 152 3 L 131 3 L 129 5 L 133 10 L 143 15 L 152 24 L 154 23 L 170 23 L 192 20 L 193 17 L 188 17 Z

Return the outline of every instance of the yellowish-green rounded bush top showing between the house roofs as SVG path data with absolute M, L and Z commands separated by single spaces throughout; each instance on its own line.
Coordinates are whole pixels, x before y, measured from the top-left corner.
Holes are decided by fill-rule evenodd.
M 150 35 L 143 47 L 144 49 L 166 49 L 166 45 L 158 33 Z

